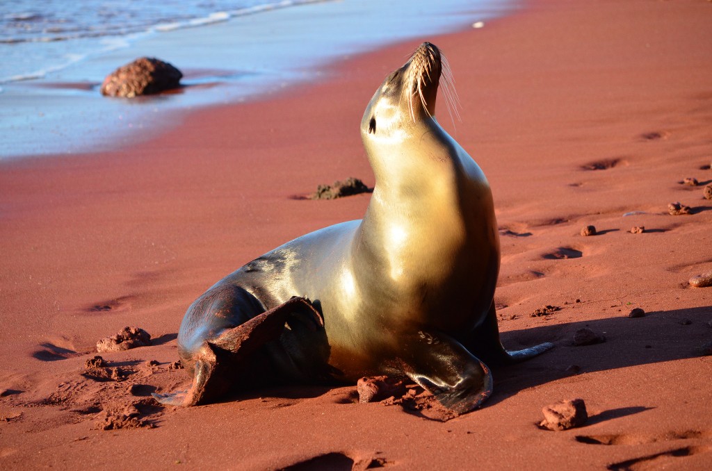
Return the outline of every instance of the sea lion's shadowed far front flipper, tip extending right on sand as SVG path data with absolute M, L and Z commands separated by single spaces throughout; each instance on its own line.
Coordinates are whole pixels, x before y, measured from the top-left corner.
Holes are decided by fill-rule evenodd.
M 466 349 L 471 351 L 478 358 L 486 361 L 488 365 L 507 365 L 518 363 L 530 359 L 533 356 L 543 354 L 554 348 L 554 344 L 544 342 L 535 346 L 530 346 L 522 350 L 506 350 L 499 339 L 499 327 L 497 325 L 497 313 L 494 302 L 492 303 L 487 317 L 480 324 L 473 334 L 463 342 Z

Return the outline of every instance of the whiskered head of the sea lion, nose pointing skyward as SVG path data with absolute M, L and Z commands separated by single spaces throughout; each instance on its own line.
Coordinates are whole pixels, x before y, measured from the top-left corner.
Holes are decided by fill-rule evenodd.
M 404 129 L 435 116 L 441 76 L 446 98 L 453 97 L 447 61 L 431 43 L 422 43 L 407 63 L 394 70 L 371 98 L 361 120 L 361 134 L 370 139 L 397 137 Z

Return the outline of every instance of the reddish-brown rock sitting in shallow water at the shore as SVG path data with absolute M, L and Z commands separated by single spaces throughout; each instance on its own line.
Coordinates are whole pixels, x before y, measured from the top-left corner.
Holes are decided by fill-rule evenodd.
M 177 88 L 183 74 L 167 62 L 142 57 L 107 75 L 101 94 L 110 97 L 137 97 Z

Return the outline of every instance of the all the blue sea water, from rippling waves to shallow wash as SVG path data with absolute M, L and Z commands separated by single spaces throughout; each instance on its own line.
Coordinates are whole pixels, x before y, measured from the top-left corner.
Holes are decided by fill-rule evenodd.
M 194 107 L 251 100 L 319 67 L 503 16 L 513 0 L 14 0 L 0 3 L 0 159 L 111 149 Z M 103 78 L 142 55 L 179 93 L 110 99 Z

